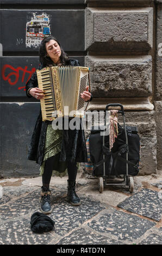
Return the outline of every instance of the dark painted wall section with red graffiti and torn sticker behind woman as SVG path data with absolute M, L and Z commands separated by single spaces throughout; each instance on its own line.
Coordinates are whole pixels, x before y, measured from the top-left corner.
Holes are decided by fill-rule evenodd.
M 27 161 L 27 153 L 40 101 L 26 96 L 26 83 L 39 66 L 42 39 L 54 35 L 69 56 L 78 59 L 82 66 L 85 56 L 84 9 L 77 8 L 77 5 L 74 8 L 60 5 L 59 9 L 54 9 L 55 3 L 66 3 L 68 7 L 69 1 L 66 0 L 21 0 L 21 3 L 30 4 L 26 9 L 18 5 L 17 9 L 18 2 L 5 0 L 5 8 L 2 6 L 0 10 L 0 178 L 39 175 L 39 165 Z M 44 4 L 43 11 L 36 9 L 38 2 Z M 47 2 L 53 3 L 53 9 L 48 7 Z M 13 4 L 12 8 L 10 4 Z

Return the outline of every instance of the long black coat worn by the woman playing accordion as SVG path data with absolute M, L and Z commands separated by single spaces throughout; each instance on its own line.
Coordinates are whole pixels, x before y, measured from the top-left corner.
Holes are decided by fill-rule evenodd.
M 66 65 L 79 66 L 79 62 L 78 60 L 70 59 Z M 40 65 L 39 69 L 42 68 L 43 66 Z M 32 75 L 32 77 L 26 84 L 26 93 L 28 92 L 29 88 L 34 87 L 38 87 L 36 72 Z M 32 97 L 28 94 L 27 96 Z M 32 139 L 28 150 L 28 160 L 36 161 L 36 163 L 40 165 L 43 162 L 43 153 L 48 124 L 52 124 L 52 121 L 42 121 L 40 109 L 40 113 L 38 119 L 36 120 Z M 61 145 L 60 161 L 87 162 L 84 130 L 63 130 L 63 141 Z

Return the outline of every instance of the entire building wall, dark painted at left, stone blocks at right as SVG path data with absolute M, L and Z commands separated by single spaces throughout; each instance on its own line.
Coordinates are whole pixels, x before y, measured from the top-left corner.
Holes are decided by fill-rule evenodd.
M 49 17 L 51 34 L 80 65 L 90 67 L 89 109 L 122 103 L 126 123 L 141 138 L 140 175 L 160 172 L 161 0 L 0 0 L 0 177 L 36 176 L 27 150 L 40 103 L 25 84 L 39 65 L 38 46 L 26 45 L 34 13 Z M 10 35 L 9 35 L 10 31 Z M 119 116 L 119 121 L 121 121 Z

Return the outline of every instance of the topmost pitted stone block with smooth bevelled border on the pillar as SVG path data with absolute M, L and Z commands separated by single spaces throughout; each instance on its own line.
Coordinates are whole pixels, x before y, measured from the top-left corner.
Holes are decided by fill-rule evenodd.
M 153 8 L 87 8 L 85 15 L 88 51 L 152 48 Z

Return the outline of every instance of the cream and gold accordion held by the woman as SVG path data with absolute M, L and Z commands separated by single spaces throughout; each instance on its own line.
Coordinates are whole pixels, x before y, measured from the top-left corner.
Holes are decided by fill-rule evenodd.
M 40 100 L 42 121 L 57 117 L 83 117 L 87 107 L 80 93 L 88 84 L 89 68 L 50 66 L 37 70 L 38 87 L 45 97 Z

